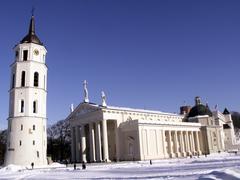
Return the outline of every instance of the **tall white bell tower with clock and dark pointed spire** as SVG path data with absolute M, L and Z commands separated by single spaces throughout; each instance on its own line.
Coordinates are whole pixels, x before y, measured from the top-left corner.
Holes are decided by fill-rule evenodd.
M 47 50 L 35 34 L 34 16 L 14 51 L 5 165 L 46 165 Z

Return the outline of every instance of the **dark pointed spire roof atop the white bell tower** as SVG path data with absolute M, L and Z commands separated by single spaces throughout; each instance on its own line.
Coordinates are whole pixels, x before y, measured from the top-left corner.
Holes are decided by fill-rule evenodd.
M 43 43 L 35 34 L 34 16 L 31 17 L 28 34 L 20 41 L 20 43 L 35 43 L 35 44 L 43 45 Z

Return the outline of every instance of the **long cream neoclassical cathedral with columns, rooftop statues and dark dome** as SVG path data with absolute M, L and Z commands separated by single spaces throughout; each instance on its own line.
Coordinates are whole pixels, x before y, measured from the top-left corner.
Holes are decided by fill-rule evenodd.
M 71 126 L 72 162 L 108 162 L 187 157 L 228 150 L 235 144 L 227 109 L 211 111 L 199 97 L 180 114 L 109 106 L 84 101 L 67 117 Z

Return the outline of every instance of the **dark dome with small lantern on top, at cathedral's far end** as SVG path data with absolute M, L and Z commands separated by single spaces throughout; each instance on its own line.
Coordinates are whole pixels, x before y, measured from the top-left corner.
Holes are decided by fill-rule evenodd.
M 201 104 L 200 97 L 197 96 L 195 98 L 195 106 L 192 107 L 192 109 L 190 110 L 188 117 L 204 115 L 212 116 L 212 112 L 210 111 L 208 105 L 204 106 L 203 104 Z

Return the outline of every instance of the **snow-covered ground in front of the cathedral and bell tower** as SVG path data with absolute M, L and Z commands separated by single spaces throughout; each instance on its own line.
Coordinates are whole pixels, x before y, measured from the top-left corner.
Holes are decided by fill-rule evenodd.
M 87 164 L 77 170 L 57 163 L 28 170 L 10 165 L 0 169 L 0 179 L 240 179 L 240 155 L 214 154 L 186 159 Z

